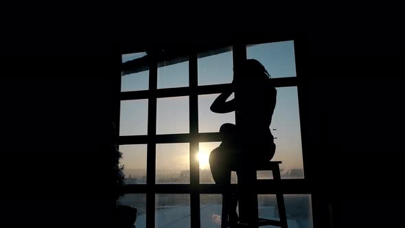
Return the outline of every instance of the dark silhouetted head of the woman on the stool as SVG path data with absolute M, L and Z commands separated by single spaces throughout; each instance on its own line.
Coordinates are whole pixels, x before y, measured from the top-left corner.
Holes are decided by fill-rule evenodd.
M 255 59 L 247 59 L 233 69 L 236 82 L 242 84 L 260 84 L 270 78 L 262 63 Z

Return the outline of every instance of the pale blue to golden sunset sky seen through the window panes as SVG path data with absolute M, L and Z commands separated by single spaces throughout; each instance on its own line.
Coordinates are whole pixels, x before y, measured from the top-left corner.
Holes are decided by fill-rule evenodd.
M 246 48 L 247 58 L 262 62 L 272 78 L 295 77 L 294 42 L 283 41 L 252 45 Z M 123 55 L 123 62 L 145 54 Z M 163 62 L 164 65 L 164 62 Z M 142 71 L 122 76 L 122 91 L 148 89 L 148 73 Z M 188 61 L 159 67 L 158 89 L 187 87 Z M 232 52 L 198 59 L 198 85 L 230 83 L 233 77 Z M 218 132 L 226 122 L 235 123 L 235 113 L 218 114 L 209 110 L 219 94 L 198 96 L 198 128 L 200 133 Z M 157 134 L 189 133 L 188 96 L 157 99 Z M 146 135 L 148 100 L 121 102 L 120 135 Z M 283 161 L 282 169 L 302 169 L 301 129 L 297 87 L 277 88 L 277 104 L 270 130 L 277 139 L 273 161 Z M 209 169 L 207 157 L 214 144 L 200 144 L 200 168 Z M 211 146 L 209 146 L 211 145 Z M 214 145 L 214 147 L 212 146 Z M 128 169 L 146 168 L 146 145 L 120 146 L 122 163 Z M 196 158 L 198 159 L 198 158 Z M 188 144 L 157 144 L 157 169 L 189 170 Z

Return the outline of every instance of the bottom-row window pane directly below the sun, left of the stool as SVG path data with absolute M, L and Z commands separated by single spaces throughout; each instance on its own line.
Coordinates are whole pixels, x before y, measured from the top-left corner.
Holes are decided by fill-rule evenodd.
M 221 227 L 222 195 L 200 194 L 201 228 Z

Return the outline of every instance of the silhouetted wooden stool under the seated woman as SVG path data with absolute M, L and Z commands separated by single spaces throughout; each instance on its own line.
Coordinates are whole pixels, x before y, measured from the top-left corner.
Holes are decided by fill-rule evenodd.
M 255 172 L 256 171 L 271 171 L 273 172 L 273 180 L 260 180 L 261 182 L 263 181 L 275 181 L 275 184 L 277 186 L 281 185 L 281 175 L 280 175 L 280 168 L 279 164 L 281 164 L 281 161 L 268 161 L 268 163 L 264 163 L 262 165 L 256 166 L 255 167 Z M 235 170 L 232 170 L 235 171 Z M 255 182 L 257 182 L 257 177 L 253 177 Z M 281 227 L 281 228 L 287 228 L 287 216 L 286 216 L 286 206 L 284 205 L 284 197 L 282 192 L 277 188 L 276 191 L 276 198 L 277 198 L 277 207 L 279 209 L 279 217 L 280 220 L 270 220 L 266 218 L 259 218 L 259 208 L 258 208 L 258 203 L 257 203 L 257 192 L 255 190 L 255 186 L 248 186 L 249 190 L 251 191 L 251 196 L 253 196 L 252 200 L 252 205 L 251 207 L 253 208 L 241 208 L 241 205 L 239 206 L 239 211 L 240 214 L 242 211 L 248 212 L 250 214 L 250 219 L 248 219 L 248 222 L 246 223 L 237 223 L 237 224 L 229 224 L 228 221 L 228 209 L 227 209 L 227 202 L 222 200 L 222 222 L 221 222 L 221 228 L 227 228 L 227 227 L 262 227 L 262 226 L 267 226 L 267 225 L 272 225 L 275 227 Z M 240 189 L 240 184 L 238 181 L 238 189 Z

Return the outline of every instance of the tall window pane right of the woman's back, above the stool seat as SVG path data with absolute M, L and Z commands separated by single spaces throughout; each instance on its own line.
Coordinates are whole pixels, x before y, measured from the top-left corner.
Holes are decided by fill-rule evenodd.
M 303 178 L 297 87 L 277 88 L 277 104 L 270 129 L 277 146 L 272 160 L 283 161 L 281 178 Z

